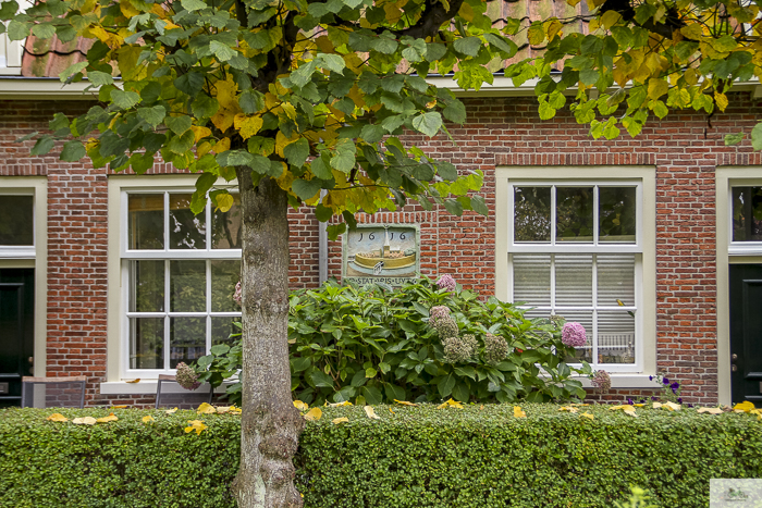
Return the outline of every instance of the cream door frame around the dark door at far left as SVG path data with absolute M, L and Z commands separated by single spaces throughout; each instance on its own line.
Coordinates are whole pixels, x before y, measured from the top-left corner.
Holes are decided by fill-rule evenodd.
M 0 247 L 0 268 L 35 269 L 35 375 L 47 373 L 48 336 L 48 178 L 46 176 L 0 176 L 0 196 L 34 196 L 35 246 L 14 256 Z

